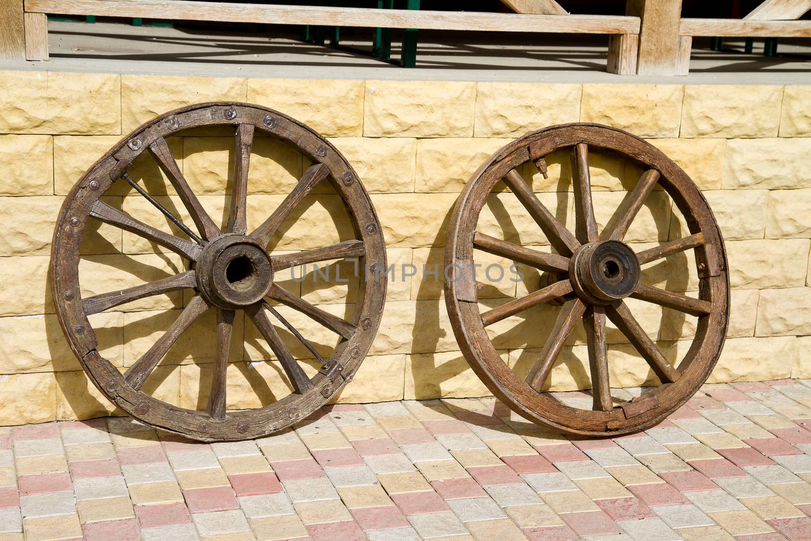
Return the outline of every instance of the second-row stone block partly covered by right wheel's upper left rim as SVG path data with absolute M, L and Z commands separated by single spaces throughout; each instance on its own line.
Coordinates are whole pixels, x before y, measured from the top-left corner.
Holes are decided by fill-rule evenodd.
M 458 193 L 478 166 L 510 141 L 466 137 L 418 140 L 414 191 Z

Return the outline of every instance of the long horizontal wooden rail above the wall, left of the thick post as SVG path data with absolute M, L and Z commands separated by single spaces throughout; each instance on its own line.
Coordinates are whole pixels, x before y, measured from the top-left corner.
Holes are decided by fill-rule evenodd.
M 229 23 L 311 24 L 481 32 L 636 34 L 639 18 L 625 15 L 525 15 L 477 11 L 378 10 L 360 7 L 226 4 L 191 0 L 25 0 L 25 11 L 61 15 L 156 17 Z

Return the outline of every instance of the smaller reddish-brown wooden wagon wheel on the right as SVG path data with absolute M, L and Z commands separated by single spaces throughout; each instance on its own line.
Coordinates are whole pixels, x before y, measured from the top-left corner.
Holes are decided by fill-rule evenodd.
M 550 213 L 518 169 L 533 161 L 546 174 L 544 157 L 569 149 L 574 196 L 574 234 Z M 609 152 L 642 167 L 642 177 L 603 231 L 594 219 L 589 150 Z M 533 167 L 533 165 L 527 165 Z M 487 196 L 503 180 L 543 230 L 553 251 L 522 247 L 477 232 Z M 684 238 L 635 253 L 624 235 L 646 198 L 659 184 L 672 198 L 689 228 Z M 510 195 L 512 197 L 513 195 Z M 698 298 L 672 293 L 640 281 L 641 265 L 693 249 Z M 480 313 L 474 276 L 475 251 L 486 251 L 543 271 L 539 289 Z M 481 258 L 479 258 L 481 259 Z M 492 393 L 511 409 L 561 432 L 588 436 L 619 435 L 650 427 L 697 391 L 718 360 L 727 330 L 729 282 L 726 252 L 718 225 L 701 192 L 672 160 L 645 141 L 621 130 L 594 124 L 569 124 L 530 132 L 506 145 L 470 178 L 457 200 L 448 227 L 445 302 L 461 351 Z M 693 343 L 675 366 L 642 329 L 623 298 L 642 299 L 697 316 Z M 537 361 L 518 376 L 497 354 L 486 327 L 530 307 L 560 305 L 554 327 Z M 606 318 L 631 342 L 663 382 L 631 401 L 614 404 L 610 394 Z M 578 321 L 586 328 L 592 409 L 579 409 L 541 392 L 564 342 Z

